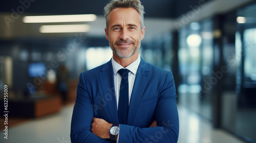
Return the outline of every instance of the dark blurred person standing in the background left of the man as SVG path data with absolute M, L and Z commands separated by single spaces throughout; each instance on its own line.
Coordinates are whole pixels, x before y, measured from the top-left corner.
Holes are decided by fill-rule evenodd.
M 67 95 L 69 90 L 69 72 L 65 65 L 61 65 L 57 74 L 57 88 L 61 94 L 62 102 L 67 102 Z

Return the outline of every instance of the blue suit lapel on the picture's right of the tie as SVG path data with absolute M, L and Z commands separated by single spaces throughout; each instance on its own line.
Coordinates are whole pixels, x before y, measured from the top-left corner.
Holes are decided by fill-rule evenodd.
M 148 80 L 147 63 L 141 58 L 129 105 L 127 124 L 132 125 Z

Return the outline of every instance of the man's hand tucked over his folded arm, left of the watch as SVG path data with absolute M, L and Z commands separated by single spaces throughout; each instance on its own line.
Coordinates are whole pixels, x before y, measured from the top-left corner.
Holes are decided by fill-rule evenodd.
M 110 138 L 109 129 L 113 124 L 110 124 L 103 120 L 102 118 L 93 118 L 93 123 L 91 126 L 91 131 L 93 134 L 100 138 Z

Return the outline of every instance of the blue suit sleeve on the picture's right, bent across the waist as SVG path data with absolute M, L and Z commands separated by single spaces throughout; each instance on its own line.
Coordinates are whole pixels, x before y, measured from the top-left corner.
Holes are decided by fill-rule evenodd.
M 172 73 L 168 73 L 160 91 L 155 118 L 157 127 L 138 128 L 120 125 L 119 142 L 177 142 L 179 117 L 176 90 Z

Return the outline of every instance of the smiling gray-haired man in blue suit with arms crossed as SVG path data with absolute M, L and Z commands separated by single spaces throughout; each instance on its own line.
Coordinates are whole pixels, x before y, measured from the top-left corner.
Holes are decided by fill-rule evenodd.
M 139 0 L 105 6 L 112 59 L 80 74 L 72 142 L 177 142 L 179 119 L 173 75 L 139 56 L 145 34 Z

